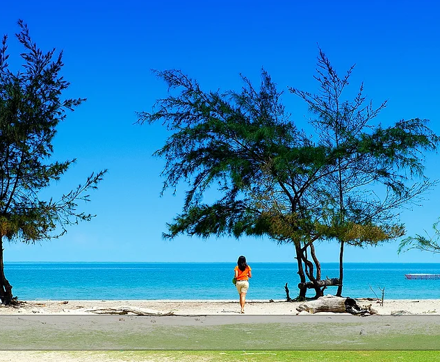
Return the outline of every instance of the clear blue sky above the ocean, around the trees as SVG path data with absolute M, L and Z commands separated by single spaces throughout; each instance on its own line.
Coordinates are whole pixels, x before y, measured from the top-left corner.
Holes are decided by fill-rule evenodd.
M 6 261 L 294 261 L 293 247 L 268 239 L 165 241 L 165 223 L 179 213 L 184 190 L 159 197 L 163 160 L 153 158 L 167 133 L 160 125 L 137 126 L 135 111 L 151 110 L 166 96 L 150 69 L 181 69 L 204 89 L 238 88 L 239 73 L 259 81 L 261 67 L 279 88 L 316 90 L 318 49 L 342 74 L 356 63 L 353 88 L 365 82 L 368 97 L 389 106 L 377 119 L 431 120 L 440 133 L 439 5 L 435 1 L 6 1 L 0 33 L 10 35 L 11 67 L 17 69 L 13 34 L 17 19 L 44 50 L 64 49 L 69 97 L 88 101 L 60 124 L 59 160 L 78 161 L 54 188 L 74 188 L 92 171 L 108 168 L 84 210 L 92 222 L 71 227 L 63 238 L 41 245 L 6 245 Z M 296 122 L 304 106 L 286 92 Z M 426 173 L 440 179 L 438 155 Z M 440 216 L 440 189 L 421 208 L 402 213 L 409 234 L 431 231 Z M 349 247 L 345 261 L 439 262 L 440 256 L 398 256 L 397 242 L 376 248 Z M 338 245 L 318 246 L 322 262 L 336 262 Z

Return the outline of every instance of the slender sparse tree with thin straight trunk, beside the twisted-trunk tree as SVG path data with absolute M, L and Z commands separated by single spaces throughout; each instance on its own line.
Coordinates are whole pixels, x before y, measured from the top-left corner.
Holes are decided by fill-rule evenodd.
M 364 84 L 348 100 L 353 69 L 340 77 L 319 49 L 315 76 L 319 92 L 289 88 L 307 103 L 320 144 L 338 150 L 334 172 L 325 178 L 320 195 L 325 224 L 332 229 L 327 238 L 340 245 L 339 296 L 345 244 L 377 245 L 405 233 L 398 213 L 434 186 L 423 176 L 423 158 L 439 141 L 427 120 L 401 120 L 388 127 L 372 124 L 386 102 L 373 108 L 364 96 Z

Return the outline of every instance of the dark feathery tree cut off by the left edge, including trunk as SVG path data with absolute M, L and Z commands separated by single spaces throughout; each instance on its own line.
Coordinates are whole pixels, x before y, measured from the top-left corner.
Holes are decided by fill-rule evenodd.
M 5 240 L 35 243 L 62 236 L 70 224 L 93 215 L 79 211 L 88 191 L 97 188 L 106 170 L 92 173 L 60 199 L 42 199 L 42 191 L 67 172 L 74 159 L 54 161 L 56 126 L 85 99 L 65 99 L 70 83 L 60 71 L 62 52 L 43 52 L 31 40 L 21 20 L 17 40 L 24 47 L 23 65 L 13 72 L 8 65 L 7 36 L 0 49 L 0 298 L 16 301 L 3 267 Z

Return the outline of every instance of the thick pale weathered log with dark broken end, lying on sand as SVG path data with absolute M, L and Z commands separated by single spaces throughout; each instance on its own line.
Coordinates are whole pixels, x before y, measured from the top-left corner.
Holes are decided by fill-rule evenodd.
M 377 314 L 371 304 L 362 308 L 357 304 L 355 299 L 335 297 L 334 295 L 326 295 L 316 300 L 300 304 L 296 308 L 298 312 L 307 311 L 309 313 L 332 312 L 332 313 L 351 313 L 356 315 Z

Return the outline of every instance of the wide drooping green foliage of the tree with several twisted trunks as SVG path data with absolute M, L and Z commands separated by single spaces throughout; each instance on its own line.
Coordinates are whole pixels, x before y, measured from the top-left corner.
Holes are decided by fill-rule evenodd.
M 154 113 L 140 113 L 139 122 L 162 120 L 173 132 L 156 151 L 166 160 L 164 190 L 181 180 L 190 187 L 184 213 L 168 225 L 165 237 L 266 234 L 284 242 L 309 235 L 300 229 L 313 222 L 292 217 L 292 207 L 295 215 L 309 213 L 300 201 L 307 199 L 308 189 L 301 186 L 332 155 L 288 120 L 270 76 L 262 72 L 259 90 L 243 77 L 240 93 L 204 92 L 179 71 L 158 76 L 181 92 L 159 100 Z M 203 204 L 202 195 L 212 186 L 222 197 Z M 286 205 L 288 199 L 293 206 Z M 277 229 L 274 220 L 284 220 L 284 226 Z

